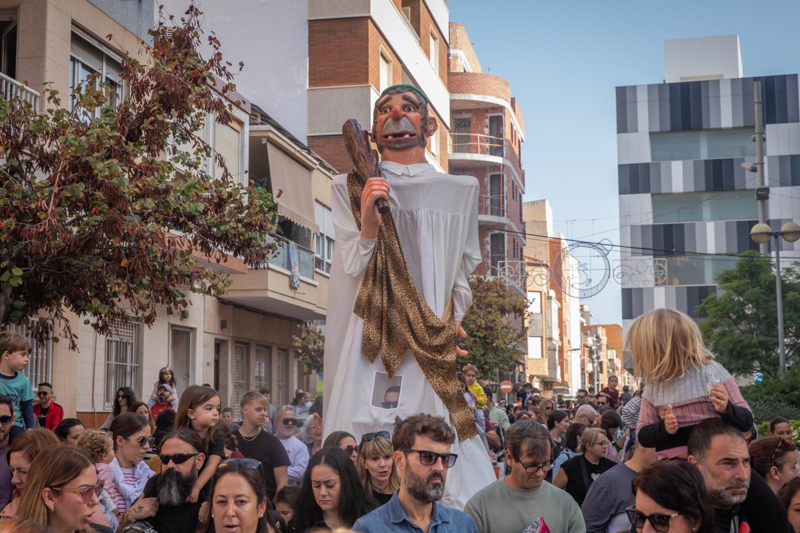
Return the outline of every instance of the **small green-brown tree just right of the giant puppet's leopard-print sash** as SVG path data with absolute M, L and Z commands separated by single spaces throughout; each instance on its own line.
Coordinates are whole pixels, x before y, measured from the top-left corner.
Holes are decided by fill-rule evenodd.
M 483 378 L 498 380 L 522 358 L 519 347 L 527 332 L 515 327 L 513 319 L 525 317 L 528 302 L 511 294 L 502 278 L 472 276 L 470 287 L 472 307 L 462 321 L 469 335 L 458 343 L 467 356 L 458 358 L 458 367 L 472 363 Z

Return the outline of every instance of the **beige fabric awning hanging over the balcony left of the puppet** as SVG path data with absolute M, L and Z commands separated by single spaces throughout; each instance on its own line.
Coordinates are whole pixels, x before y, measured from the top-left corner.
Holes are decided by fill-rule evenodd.
M 272 193 L 277 196 L 278 190 L 282 190 L 281 197 L 275 198 L 278 214 L 318 234 L 319 226 L 314 222 L 311 171 L 269 142 L 266 153 L 270 158 Z

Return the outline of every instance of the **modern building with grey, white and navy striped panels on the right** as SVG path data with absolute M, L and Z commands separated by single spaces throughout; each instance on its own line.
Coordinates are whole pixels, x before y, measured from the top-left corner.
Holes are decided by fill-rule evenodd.
M 763 94 L 766 218 L 776 230 L 800 218 L 797 74 L 744 77 L 737 35 L 668 40 L 664 50 L 665 82 L 617 87 L 626 331 L 658 307 L 702 320 L 695 308 L 736 260 L 714 254 L 758 250 L 749 235 L 758 222 L 756 177 L 742 169 L 755 161 L 755 80 Z M 779 246 L 800 256 L 797 242 Z

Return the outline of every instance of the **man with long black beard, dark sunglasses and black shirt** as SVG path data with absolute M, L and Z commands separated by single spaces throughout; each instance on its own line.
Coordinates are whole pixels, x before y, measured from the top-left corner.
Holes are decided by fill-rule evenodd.
M 179 429 L 164 436 L 158 455 L 161 474 L 147 481 L 142 495 L 119 519 L 125 533 L 193 533 L 198 525 L 202 495 L 194 503 L 186 498 L 194 490 L 198 471 L 206 461 L 196 431 Z

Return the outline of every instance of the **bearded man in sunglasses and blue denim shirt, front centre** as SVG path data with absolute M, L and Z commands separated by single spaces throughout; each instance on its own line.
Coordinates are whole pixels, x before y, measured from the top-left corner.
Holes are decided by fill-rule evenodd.
M 437 503 L 445 493 L 447 469 L 458 459 L 450 453 L 454 440 L 455 432 L 441 416 L 395 419 L 392 444 L 400 488 L 389 503 L 356 520 L 353 531 L 474 533 L 475 524 L 469 516 Z

